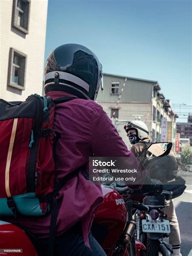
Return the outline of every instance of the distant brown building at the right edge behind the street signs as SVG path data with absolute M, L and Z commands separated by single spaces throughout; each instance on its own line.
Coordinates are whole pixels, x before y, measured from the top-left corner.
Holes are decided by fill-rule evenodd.
M 192 115 L 189 114 L 187 123 L 176 123 L 176 124 L 177 124 L 177 132 L 180 133 L 180 138 L 190 139 L 190 145 L 192 146 Z

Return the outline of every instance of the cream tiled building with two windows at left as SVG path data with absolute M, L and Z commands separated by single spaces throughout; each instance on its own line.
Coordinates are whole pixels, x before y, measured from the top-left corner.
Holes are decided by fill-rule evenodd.
M 42 94 L 48 0 L 0 1 L 0 98 Z

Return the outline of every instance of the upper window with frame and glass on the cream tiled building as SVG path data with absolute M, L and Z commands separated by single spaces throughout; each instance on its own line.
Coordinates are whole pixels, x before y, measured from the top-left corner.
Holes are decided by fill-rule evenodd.
M 30 0 L 13 0 L 12 26 L 28 34 Z

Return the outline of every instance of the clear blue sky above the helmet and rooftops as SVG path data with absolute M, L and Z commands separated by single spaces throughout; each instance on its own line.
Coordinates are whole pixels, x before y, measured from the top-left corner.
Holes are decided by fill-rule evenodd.
M 79 43 L 96 53 L 105 73 L 158 80 L 172 103 L 192 105 L 191 5 L 190 0 L 49 0 L 45 58 L 59 45 Z M 181 106 L 181 114 L 189 111 Z

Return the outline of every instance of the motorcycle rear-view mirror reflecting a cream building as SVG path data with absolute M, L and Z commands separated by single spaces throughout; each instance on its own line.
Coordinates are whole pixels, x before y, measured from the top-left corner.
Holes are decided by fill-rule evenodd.
M 157 143 L 152 143 L 146 151 L 147 159 L 152 159 L 157 156 L 163 156 L 169 154 L 169 151 L 171 150 L 172 147 L 171 142 L 157 142 Z M 166 154 L 167 153 L 167 154 Z

